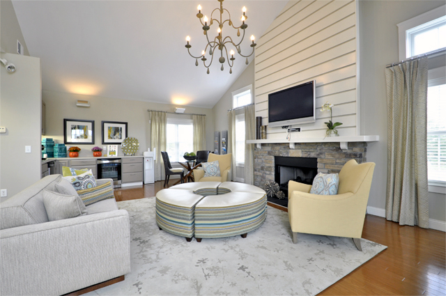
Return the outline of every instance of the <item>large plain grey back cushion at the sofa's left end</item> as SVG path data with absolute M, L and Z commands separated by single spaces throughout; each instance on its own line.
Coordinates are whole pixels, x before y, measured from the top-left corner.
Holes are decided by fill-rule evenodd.
M 46 176 L 0 203 L 0 229 L 47 222 L 43 189 L 54 191 L 60 179 L 61 175 Z

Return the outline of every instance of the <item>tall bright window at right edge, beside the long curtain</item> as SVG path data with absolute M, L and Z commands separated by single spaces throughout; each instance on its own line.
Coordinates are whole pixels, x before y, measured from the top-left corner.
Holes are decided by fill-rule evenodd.
M 446 186 L 446 68 L 429 70 L 427 171 L 429 185 Z

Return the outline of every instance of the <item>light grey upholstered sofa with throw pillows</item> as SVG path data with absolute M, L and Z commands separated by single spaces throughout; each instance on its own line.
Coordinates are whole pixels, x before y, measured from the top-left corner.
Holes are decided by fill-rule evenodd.
M 0 204 L 0 295 L 62 295 L 130 272 L 128 212 L 109 198 L 49 221 L 43 189 L 60 181 L 47 176 Z

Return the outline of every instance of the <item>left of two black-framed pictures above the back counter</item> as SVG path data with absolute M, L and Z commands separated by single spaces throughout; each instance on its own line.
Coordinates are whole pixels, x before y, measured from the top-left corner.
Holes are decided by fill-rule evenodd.
M 95 120 L 63 119 L 63 143 L 94 144 Z

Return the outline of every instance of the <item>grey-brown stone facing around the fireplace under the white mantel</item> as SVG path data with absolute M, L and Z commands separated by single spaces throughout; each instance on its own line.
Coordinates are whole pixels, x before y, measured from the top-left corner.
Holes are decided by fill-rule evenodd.
M 357 163 L 366 162 L 367 142 L 349 142 L 348 150 L 341 150 L 339 143 L 289 143 L 262 144 L 254 148 L 254 185 L 262 187 L 265 182 L 274 180 L 274 157 L 316 157 L 318 173 L 339 173 L 350 159 Z

